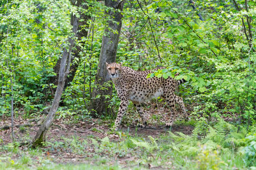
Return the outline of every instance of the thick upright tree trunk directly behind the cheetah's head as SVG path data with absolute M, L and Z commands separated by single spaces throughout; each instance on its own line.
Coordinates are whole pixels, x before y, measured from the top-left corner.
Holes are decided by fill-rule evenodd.
M 123 1 L 105 0 L 105 6 L 112 7 L 106 12 L 111 19 L 108 21 L 108 26 L 105 28 L 104 36 L 102 37 L 100 62 L 98 63 L 97 75 L 94 82 L 97 88 L 93 89 L 91 99 L 91 110 L 97 112 L 99 115 L 111 113 L 111 109 L 108 108 L 109 99 L 106 99 L 105 95 L 111 97 L 112 86 L 104 85 L 110 80 L 109 76 L 107 76 L 105 63 L 115 62 L 122 27 L 122 14 L 119 11 L 123 10 Z M 100 95 L 100 97 L 95 99 L 98 95 Z

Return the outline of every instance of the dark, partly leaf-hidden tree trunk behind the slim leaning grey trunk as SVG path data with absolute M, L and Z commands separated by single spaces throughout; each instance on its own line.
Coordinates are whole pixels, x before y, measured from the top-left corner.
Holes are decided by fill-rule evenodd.
M 77 7 L 82 6 L 82 8 L 87 9 L 88 6 L 82 4 L 82 0 L 81 1 L 77 1 L 76 4 L 73 4 Z M 80 12 L 80 18 L 78 20 L 78 28 L 77 28 L 77 40 L 80 41 L 82 37 L 86 37 L 88 34 L 88 20 L 90 19 L 89 15 L 85 15 L 85 12 Z M 72 16 L 73 17 L 73 16 Z M 73 19 L 71 19 L 71 24 L 73 25 Z M 86 25 L 86 27 L 85 27 Z M 81 42 L 84 44 L 84 42 Z M 82 45 L 83 46 L 83 45 Z M 70 66 L 70 71 L 68 74 L 68 77 L 65 81 L 65 85 L 64 85 L 64 90 L 66 87 L 68 87 L 68 83 L 72 82 L 73 78 L 75 77 L 76 74 L 76 70 L 77 67 L 79 66 L 80 63 L 80 58 L 81 56 L 79 55 L 79 53 L 81 52 L 81 49 L 79 48 L 79 46 L 75 46 L 75 48 L 72 49 L 72 58 L 71 58 L 71 63 L 72 65 Z M 74 58 L 78 58 L 77 62 L 73 62 Z M 58 83 L 58 78 L 59 78 L 59 70 L 60 70 L 60 62 L 61 62 L 61 58 L 58 59 L 58 61 L 56 62 L 56 65 L 53 67 L 54 73 L 56 74 L 55 76 L 52 76 L 49 79 L 48 84 L 55 84 L 57 85 Z M 56 89 L 52 89 L 52 93 L 54 94 Z

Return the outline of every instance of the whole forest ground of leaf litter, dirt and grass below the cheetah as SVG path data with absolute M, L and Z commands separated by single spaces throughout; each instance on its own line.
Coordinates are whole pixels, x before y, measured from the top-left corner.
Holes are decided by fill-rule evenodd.
M 196 155 L 203 152 L 203 145 L 197 142 L 191 147 L 183 142 L 190 138 L 196 122 L 177 118 L 172 128 L 165 128 L 166 111 L 156 109 L 151 113 L 147 128 L 137 128 L 135 122 L 139 121 L 139 116 L 129 111 L 118 131 L 109 130 L 114 120 L 91 117 L 80 120 L 74 116 L 58 118 L 56 115 L 46 142 L 36 149 L 19 144 L 35 137 L 45 115 L 34 118 L 24 118 L 22 114 L 16 116 L 14 125 L 18 126 L 14 127 L 14 141 L 11 128 L 6 126 L 11 125 L 10 117 L 2 117 L 0 169 L 199 169 L 201 157 Z M 184 148 L 184 152 L 180 152 L 177 146 Z M 203 166 L 217 159 L 215 152 L 209 152 L 213 153 L 213 158 L 205 160 L 202 157 Z M 227 162 L 231 158 L 236 161 L 224 169 L 244 168 L 238 155 L 228 155 L 220 160 L 227 159 L 224 160 Z M 213 162 L 213 165 L 219 166 L 220 161 Z

